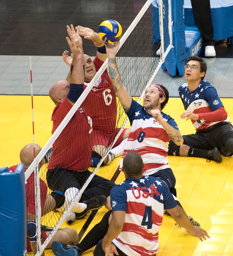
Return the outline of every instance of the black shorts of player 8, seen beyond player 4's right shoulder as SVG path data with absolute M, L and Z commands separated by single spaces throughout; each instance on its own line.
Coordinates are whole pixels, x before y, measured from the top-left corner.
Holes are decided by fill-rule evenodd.
M 163 180 L 169 187 L 170 192 L 176 196 L 175 175 L 174 175 L 173 171 L 171 170 L 171 168 L 159 170 L 156 173 L 153 173 L 149 176 L 153 176 L 153 177 L 160 178 L 161 180 Z

